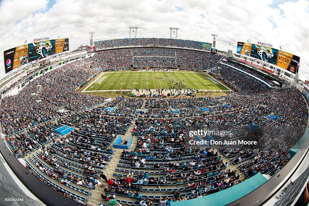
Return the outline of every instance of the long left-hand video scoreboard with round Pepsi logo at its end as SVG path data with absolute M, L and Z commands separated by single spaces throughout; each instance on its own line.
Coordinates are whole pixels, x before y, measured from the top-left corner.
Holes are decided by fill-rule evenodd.
M 28 62 L 66 51 L 69 51 L 68 38 L 35 41 L 8 49 L 3 52 L 5 73 L 17 69 Z

